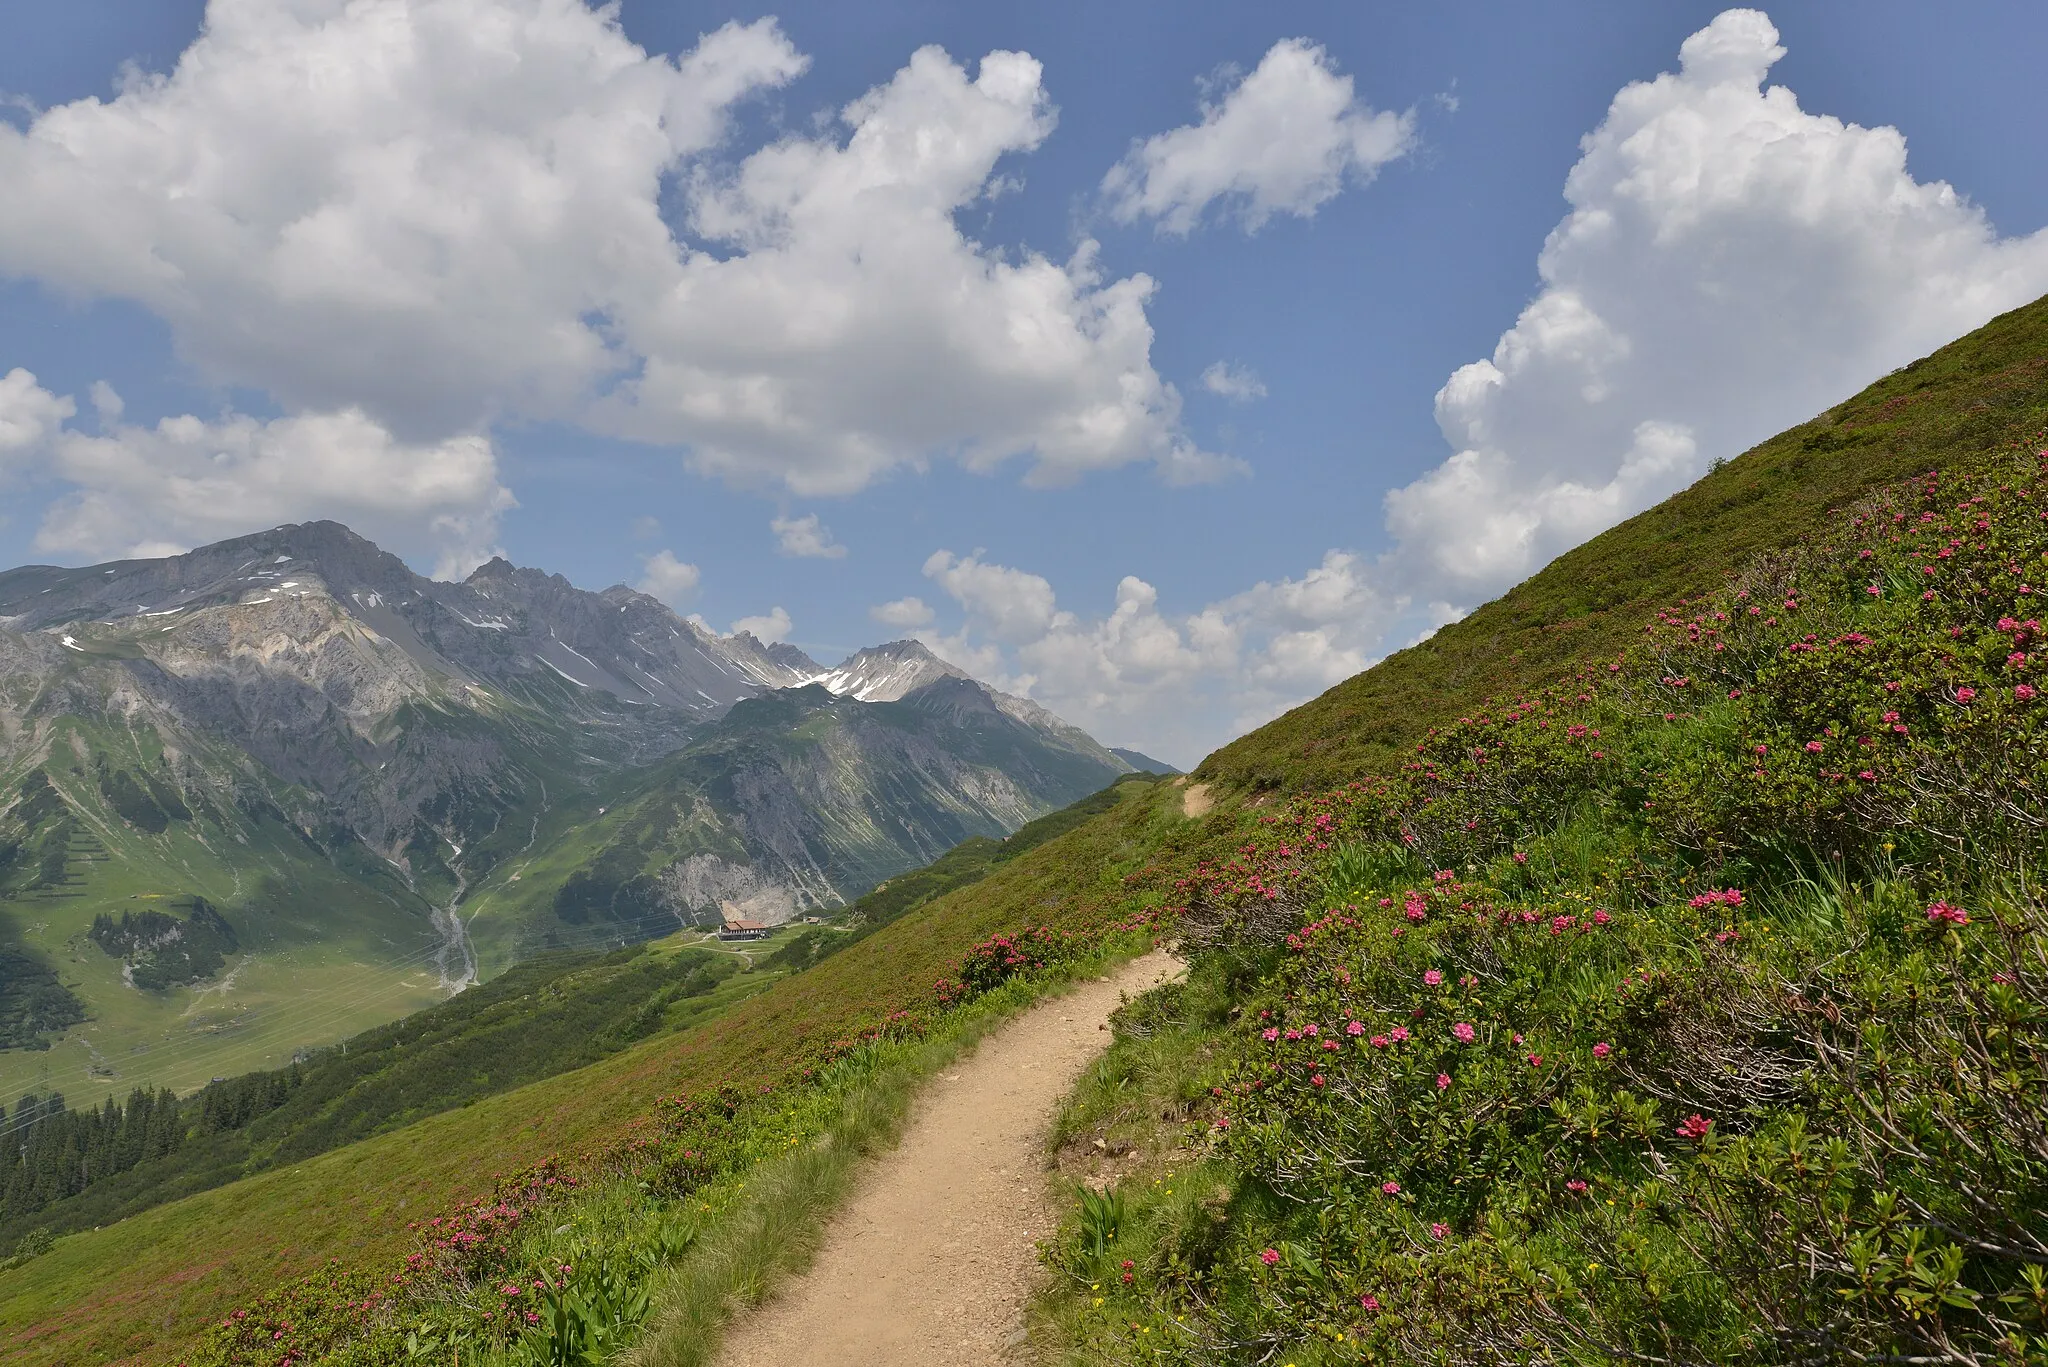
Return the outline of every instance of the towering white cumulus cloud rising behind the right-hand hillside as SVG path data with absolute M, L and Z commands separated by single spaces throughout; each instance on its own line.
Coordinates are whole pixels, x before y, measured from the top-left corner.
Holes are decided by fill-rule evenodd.
M 1477 603 L 1878 375 L 2048 289 L 1907 170 L 1892 127 L 1800 109 L 1757 10 L 1614 96 L 1565 180 L 1542 289 L 1436 396 L 1450 459 L 1386 498 L 1389 574 Z

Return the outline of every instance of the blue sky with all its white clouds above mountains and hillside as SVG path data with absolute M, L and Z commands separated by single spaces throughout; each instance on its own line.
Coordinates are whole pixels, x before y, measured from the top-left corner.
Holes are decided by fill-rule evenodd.
M 1767 14 L 10 6 L 0 562 L 340 516 L 1192 762 L 2048 289 L 2040 6 Z

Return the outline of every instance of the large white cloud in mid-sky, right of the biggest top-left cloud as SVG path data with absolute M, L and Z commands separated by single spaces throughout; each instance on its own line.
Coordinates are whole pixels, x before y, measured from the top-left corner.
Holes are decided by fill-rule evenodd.
M 1133 461 L 1174 482 L 1231 473 L 1180 434 L 1149 277 L 1108 281 L 1092 242 L 1057 262 L 958 227 L 995 164 L 1053 129 L 1036 59 L 997 51 L 969 74 L 920 49 L 840 127 L 690 182 L 692 230 L 727 250 L 684 254 L 621 312 L 645 373 L 596 420 L 799 494 L 934 453 L 975 469 L 1028 455 L 1038 484 Z

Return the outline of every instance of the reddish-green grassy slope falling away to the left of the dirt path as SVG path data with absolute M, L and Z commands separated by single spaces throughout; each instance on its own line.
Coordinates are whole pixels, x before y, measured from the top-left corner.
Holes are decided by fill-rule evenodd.
M 492 1174 L 598 1148 L 653 1113 L 657 1096 L 778 1078 L 891 1012 L 934 1000 L 934 984 L 989 935 L 1020 924 L 1085 926 L 1120 908 L 1124 875 L 1194 824 L 1167 785 L 1116 785 L 1118 805 L 1006 863 L 971 887 L 903 914 L 817 967 L 776 982 L 715 1021 L 590 1068 L 487 1096 L 164 1205 L 59 1238 L 0 1271 L 0 1351 L 23 1363 L 115 1361 L 186 1342 L 223 1308 L 344 1258 L 375 1265 L 414 1244 L 406 1224 L 481 1195 Z M 154 1359 L 152 1359 L 154 1361 Z

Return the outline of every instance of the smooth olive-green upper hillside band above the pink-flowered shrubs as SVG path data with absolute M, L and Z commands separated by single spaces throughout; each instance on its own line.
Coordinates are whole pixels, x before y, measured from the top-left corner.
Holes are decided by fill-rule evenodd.
M 1223 746 L 1196 777 L 1300 791 L 1386 773 L 1430 726 L 1614 654 L 1651 611 L 1815 535 L 1831 508 L 1933 467 L 1976 469 L 2044 420 L 2048 299 L 2038 299 L 1559 555 L 1421 646 Z

